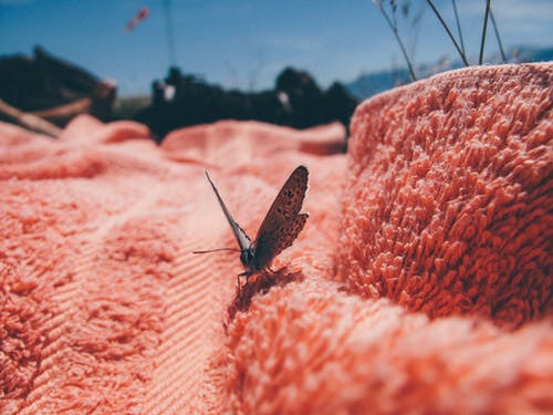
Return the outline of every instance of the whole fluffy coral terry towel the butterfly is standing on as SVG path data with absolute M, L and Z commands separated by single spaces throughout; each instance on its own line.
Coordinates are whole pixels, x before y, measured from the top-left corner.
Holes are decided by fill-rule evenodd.
M 347 155 L 338 124 L 0 124 L 0 413 L 552 413 L 552 81 L 390 91 Z M 237 311 L 238 255 L 191 253 L 236 243 L 204 169 L 253 237 L 300 164 L 310 219 Z

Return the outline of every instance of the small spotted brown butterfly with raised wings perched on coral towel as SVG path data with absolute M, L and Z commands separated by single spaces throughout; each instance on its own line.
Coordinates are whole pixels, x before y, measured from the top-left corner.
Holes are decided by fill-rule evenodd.
M 219 190 L 217 190 L 206 170 L 206 177 L 213 188 L 217 200 L 240 247 L 240 261 L 246 271 L 239 274 L 239 278 L 246 276 L 248 279 L 251 274 L 260 271 L 272 271 L 270 264 L 273 258 L 290 247 L 298 238 L 309 217 L 307 214 L 300 214 L 305 191 L 307 190 L 307 176 L 309 170 L 304 166 L 299 166 L 292 172 L 269 208 L 255 239 L 251 241 L 246 231 L 232 218 L 232 215 L 219 195 Z M 194 253 L 206 253 L 218 250 L 237 249 L 222 248 L 209 251 L 195 251 Z

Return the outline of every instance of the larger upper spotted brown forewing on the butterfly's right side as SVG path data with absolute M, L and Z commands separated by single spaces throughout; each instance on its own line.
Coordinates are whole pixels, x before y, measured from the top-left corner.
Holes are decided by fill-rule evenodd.
M 299 166 L 292 172 L 286 183 L 284 183 L 284 186 L 282 186 L 276 195 L 263 222 L 259 227 L 255 237 L 257 246 L 259 246 L 260 242 L 265 245 L 264 240 L 268 239 L 275 229 L 292 221 L 298 216 L 302 209 L 305 191 L 307 190 L 307 176 L 309 170 L 305 166 Z

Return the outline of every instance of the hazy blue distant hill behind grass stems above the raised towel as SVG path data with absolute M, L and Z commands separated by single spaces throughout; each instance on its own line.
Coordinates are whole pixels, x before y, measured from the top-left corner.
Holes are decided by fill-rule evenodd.
M 522 62 L 547 62 L 553 60 L 553 48 L 515 46 L 505 51 L 509 63 Z M 474 59 L 471 61 L 473 62 Z M 502 62 L 499 54 L 488 58 L 488 64 L 499 64 Z M 419 80 L 434 74 L 461 68 L 460 61 L 442 60 L 431 65 L 419 65 L 416 73 Z M 356 80 L 346 83 L 347 91 L 359 100 L 368 98 L 380 92 L 395 86 L 409 83 L 409 72 L 407 69 L 390 71 L 371 72 L 359 75 Z

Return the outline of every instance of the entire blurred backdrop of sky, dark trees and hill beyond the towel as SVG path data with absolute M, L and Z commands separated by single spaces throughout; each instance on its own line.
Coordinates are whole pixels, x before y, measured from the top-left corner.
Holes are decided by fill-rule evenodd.
M 487 1 L 432 3 L 478 64 Z M 552 60 L 551 0 L 491 10 L 484 63 Z M 424 0 L 0 0 L 3 118 L 88 112 L 158 141 L 220 118 L 347 125 L 358 102 L 413 81 L 394 27 L 415 77 L 465 64 Z

